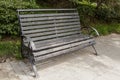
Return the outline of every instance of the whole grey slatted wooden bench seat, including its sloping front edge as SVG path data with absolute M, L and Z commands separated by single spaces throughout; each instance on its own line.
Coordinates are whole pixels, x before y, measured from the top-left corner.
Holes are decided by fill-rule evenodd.
M 85 43 L 86 43 L 86 45 L 85 45 Z M 68 52 L 70 52 L 70 51 L 76 49 L 77 47 L 79 49 L 80 47 L 83 47 L 82 44 L 83 44 L 84 47 L 86 47 L 86 46 L 95 44 L 95 41 L 92 37 L 84 36 L 84 38 L 83 38 L 80 35 L 79 36 L 73 36 L 73 37 L 66 37 L 66 38 L 63 38 L 63 39 L 56 39 L 53 42 L 48 42 L 48 43 L 45 42 L 45 43 L 42 43 L 42 44 L 37 44 L 36 45 L 37 47 L 33 51 L 33 54 L 34 54 L 34 57 L 41 58 L 40 56 L 45 57 L 45 55 L 48 55 L 48 54 L 53 55 L 54 52 L 57 52 L 57 51 L 60 52 L 62 50 L 68 50 L 69 49 Z M 81 46 L 79 46 L 79 45 L 81 45 Z M 60 54 L 62 54 L 62 52 Z M 42 59 L 45 59 L 45 58 L 41 58 L 39 60 L 42 60 Z

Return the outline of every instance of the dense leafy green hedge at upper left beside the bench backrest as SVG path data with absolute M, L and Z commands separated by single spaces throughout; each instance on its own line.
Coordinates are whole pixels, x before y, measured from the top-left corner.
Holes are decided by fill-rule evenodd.
M 19 35 L 17 9 L 39 8 L 35 1 L 0 0 L 0 37 L 3 35 Z

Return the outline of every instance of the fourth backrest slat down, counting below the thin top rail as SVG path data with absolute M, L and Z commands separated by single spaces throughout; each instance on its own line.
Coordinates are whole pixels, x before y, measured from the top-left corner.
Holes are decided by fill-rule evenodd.
M 39 29 L 39 28 L 49 28 L 49 27 L 57 27 L 57 26 L 69 26 L 69 25 L 80 25 L 80 22 L 73 22 L 73 23 L 63 23 L 63 24 L 51 24 L 51 25 L 37 25 L 37 26 L 29 26 L 29 27 L 22 27 L 22 30 L 29 30 L 29 29 Z

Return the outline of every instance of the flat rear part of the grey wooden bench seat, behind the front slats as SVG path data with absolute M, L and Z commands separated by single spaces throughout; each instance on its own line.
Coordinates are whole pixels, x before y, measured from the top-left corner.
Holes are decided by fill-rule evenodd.
M 64 38 L 56 38 L 54 40 L 49 40 L 49 41 L 41 41 L 37 44 L 35 44 L 35 51 L 36 50 L 42 50 L 42 49 L 47 49 L 47 48 L 52 48 L 60 45 L 65 45 L 65 44 L 70 44 L 74 42 L 81 42 L 84 40 L 91 39 L 93 37 L 90 36 L 85 36 L 85 35 L 74 35 L 74 36 L 67 36 Z

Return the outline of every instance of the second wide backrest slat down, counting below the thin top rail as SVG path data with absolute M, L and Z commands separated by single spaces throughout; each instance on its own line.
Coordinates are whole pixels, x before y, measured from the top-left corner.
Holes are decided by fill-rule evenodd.
M 41 18 L 23 18 L 20 19 L 21 22 L 24 21 L 45 21 L 45 20 L 55 20 L 55 19 L 79 19 L 79 16 L 51 16 L 51 17 L 41 17 Z

